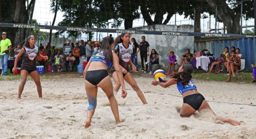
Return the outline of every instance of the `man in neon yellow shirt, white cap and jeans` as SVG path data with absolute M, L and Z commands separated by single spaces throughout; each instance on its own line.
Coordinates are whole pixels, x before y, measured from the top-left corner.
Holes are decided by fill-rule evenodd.
M 11 40 L 7 37 L 7 33 L 3 32 L 2 34 L 3 40 L 0 41 L 0 59 L 1 59 L 1 64 L 2 64 L 2 69 L 3 69 L 3 75 L 7 74 L 7 62 L 9 58 L 9 53 L 11 50 Z

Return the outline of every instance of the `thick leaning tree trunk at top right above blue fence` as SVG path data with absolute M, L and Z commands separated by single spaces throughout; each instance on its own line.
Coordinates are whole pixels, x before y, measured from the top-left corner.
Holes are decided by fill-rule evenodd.
M 228 33 L 231 34 L 240 34 L 240 13 L 236 13 L 230 9 L 226 4 L 226 1 L 215 1 L 215 0 L 206 0 L 210 6 L 215 9 L 216 5 L 223 4 L 224 6 L 217 7 L 217 17 L 220 21 L 225 23 Z M 218 4 L 216 3 L 218 2 Z

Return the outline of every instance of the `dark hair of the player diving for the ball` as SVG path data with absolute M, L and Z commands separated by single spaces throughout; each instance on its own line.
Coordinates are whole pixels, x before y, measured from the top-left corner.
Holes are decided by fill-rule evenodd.
M 182 86 L 185 87 L 185 85 L 188 84 L 188 82 L 192 79 L 191 74 L 194 68 L 192 67 L 192 65 L 184 63 L 182 65 L 182 69 L 183 69 L 183 72 L 180 72 L 178 74 L 173 74 L 171 75 L 171 78 L 175 78 L 177 81 L 177 84 L 178 82 L 181 82 Z

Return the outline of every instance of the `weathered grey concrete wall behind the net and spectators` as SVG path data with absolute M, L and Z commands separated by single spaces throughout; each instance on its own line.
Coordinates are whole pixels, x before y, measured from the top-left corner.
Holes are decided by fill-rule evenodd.
M 182 32 L 194 32 L 194 28 L 191 25 L 151 25 L 145 27 L 132 28 L 133 30 L 150 30 L 150 31 L 182 31 Z M 135 38 L 139 44 L 142 40 L 142 36 L 146 37 L 148 41 L 149 54 L 151 50 L 155 49 L 156 52 L 161 56 L 161 68 L 168 70 L 168 55 L 171 51 L 179 56 L 179 63 L 181 61 L 182 54 L 185 53 L 186 49 L 189 48 L 191 53 L 194 50 L 194 37 L 193 36 L 174 36 L 174 35 L 148 35 L 148 34 L 131 34 L 131 38 Z M 149 60 L 149 57 L 148 57 Z M 141 58 L 138 54 L 139 71 L 141 70 Z M 145 67 L 145 66 L 144 66 Z

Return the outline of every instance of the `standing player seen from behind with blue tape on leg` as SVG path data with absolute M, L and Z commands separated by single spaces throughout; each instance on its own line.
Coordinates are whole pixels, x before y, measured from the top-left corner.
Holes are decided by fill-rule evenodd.
M 112 54 L 111 45 L 113 44 L 113 38 L 103 38 L 101 49 L 96 50 L 92 54 L 88 64 L 84 69 L 85 91 L 89 102 L 87 109 L 87 119 L 84 125 L 85 128 L 88 128 L 91 125 L 91 118 L 97 105 L 98 87 L 100 87 L 107 95 L 108 100 L 110 101 L 111 110 L 115 117 L 115 121 L 117 124 L 120 123 L 117 100 L 115 99 L 113 93 L 113 85 L 107 72 L 107 68 L 110 68 L 112 64 L 117 71 L 117 78 L 122 85 L 122 98 L 126 97 L 127 92 L 125 90 L 122 71 L 119 67 L 118 57 L 114 54 L 114 52 Z

